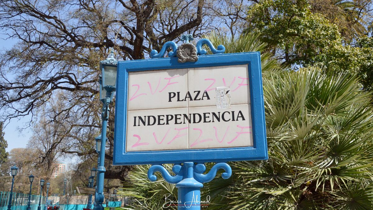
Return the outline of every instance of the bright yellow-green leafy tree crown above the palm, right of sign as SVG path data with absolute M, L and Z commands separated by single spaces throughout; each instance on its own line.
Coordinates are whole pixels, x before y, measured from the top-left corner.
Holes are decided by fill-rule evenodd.
M 306 0 L 264 0 L 248 10 L 246 32 L 261 32 L 261 40 L 284 64 L 310 63 L 322 49 L 341 42 L 338 27 L 312 13 Z

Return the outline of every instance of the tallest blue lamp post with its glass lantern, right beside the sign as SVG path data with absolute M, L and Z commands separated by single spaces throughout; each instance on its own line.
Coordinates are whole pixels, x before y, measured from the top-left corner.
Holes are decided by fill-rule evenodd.
M 103 103 L 101 118 L 101 146 L 100 146 L 100 162 L 97 167 L 97 191 L 95 193 L 95 210 L 103 210 L 102 203 L 104 202 L 104 173 L 106 171 L 105 163 L 105 146 L 106 146 L 106 129 L 107 121 L 109 120 L 109 104 L 113 99 L 115 91 L 117 60 L 114 58 L 114 51 L 112 50 L 109 57 L 104 61 L 100 61 L 100 69 L 102 77 L 100 82 L 100 100 Z

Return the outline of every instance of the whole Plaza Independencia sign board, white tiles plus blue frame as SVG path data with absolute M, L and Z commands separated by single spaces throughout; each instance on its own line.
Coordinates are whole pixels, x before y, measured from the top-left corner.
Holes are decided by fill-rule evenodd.
M 260 53 L 118 63 L 114 165 L 267 159 Z

